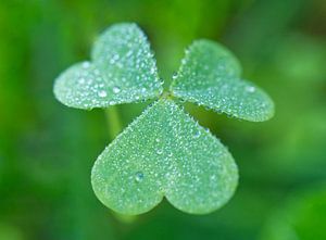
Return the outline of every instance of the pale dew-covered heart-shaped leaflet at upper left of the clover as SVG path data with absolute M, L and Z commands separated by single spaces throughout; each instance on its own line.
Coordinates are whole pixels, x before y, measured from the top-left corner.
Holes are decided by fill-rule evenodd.
M 54 94 L 77 109 L 153 99 L 162 93 L 156 63 L 136 24 L 109 27 L 96 41 L 92 61 L 73 65 L 54 84 Z

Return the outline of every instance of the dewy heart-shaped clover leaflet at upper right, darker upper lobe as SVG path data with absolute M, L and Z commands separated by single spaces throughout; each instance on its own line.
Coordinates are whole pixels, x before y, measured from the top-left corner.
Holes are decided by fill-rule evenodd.
M 237 118 L 271 118 L 273 101 L 259 87 L 240 79 L 240 72 L 238 61 L 228 50 L 209 40 L 198 40 L 186 51 L 171 91 L 175 97 Z

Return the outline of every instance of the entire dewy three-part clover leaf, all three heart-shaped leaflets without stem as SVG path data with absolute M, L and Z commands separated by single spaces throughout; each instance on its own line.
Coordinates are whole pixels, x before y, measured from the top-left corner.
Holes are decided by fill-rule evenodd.
M 136 215 L 165 197 L 176 209 L 210 213 L 234 194 L 238 170 L 231 154 L 173 98 L 230 116 L 262 122 L 274 114 L 269 97 L 240 78 L 237 59 L 210 40 L 187 50 L 170 90 L 163 92 L 156 63 L 136 24 L 109 27 L 95 42 L 91 61 L 62 73 L 54 94 L 77 109 L 156 99 L 99 155 L 91 184 L 108 207 Z

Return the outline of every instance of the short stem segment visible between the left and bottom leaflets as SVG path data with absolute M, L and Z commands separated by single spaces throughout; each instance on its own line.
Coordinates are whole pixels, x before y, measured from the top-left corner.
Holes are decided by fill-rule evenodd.
M 122 123 L 118 115 L 118 109 L 116 105 L 112 105 L 104 111 L 106 116 L 106 125 L 109 128 L 109 137 L 112 141 L 122 130 Z

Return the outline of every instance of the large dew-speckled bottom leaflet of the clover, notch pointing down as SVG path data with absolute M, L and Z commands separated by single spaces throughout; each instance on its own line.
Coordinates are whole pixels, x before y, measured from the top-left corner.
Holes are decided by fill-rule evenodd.
M 99 200 L 122 214 L 148 212 L 166 199 L 193 214 L 233 195 L 237 166 L 227 149 L 172 100 L 149 106 L 98 157 L 91 181 Z

